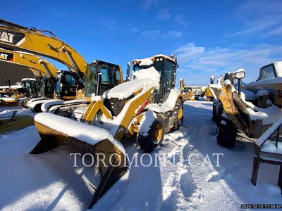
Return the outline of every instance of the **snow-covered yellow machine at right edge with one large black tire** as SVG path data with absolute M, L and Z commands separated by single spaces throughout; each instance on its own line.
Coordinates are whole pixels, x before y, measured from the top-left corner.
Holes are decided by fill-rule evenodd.
M 266 65 L 261 68 L 256 82 L 242 86 L 245 70 L 239 69 L 226 73 L 223 85 L 209 86 L 215 99 L 213 120 L 218 124 L 219 144 L 233 147 L 238 129 L 246 136 L 258 139 L 282 117 L 281 70 L 282 62 Z M 236 84 L 235 79 L 238 79 Z

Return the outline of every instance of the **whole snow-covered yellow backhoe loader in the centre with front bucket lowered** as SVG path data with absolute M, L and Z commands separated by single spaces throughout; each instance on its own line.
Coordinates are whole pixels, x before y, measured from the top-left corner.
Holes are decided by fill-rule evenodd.
M 119 141 L 135 135 L 140 147 L 151 153 L 161 145 L 165 132 L 182 124 L 183 98 L 175 88 L 177 67 L 174 56 L 133 60 L 131 80 L 105 91 L 102 96 L 102 73 L 98 73 L 90 105 L 85 110 L 74 111 L 78 121 L 52 113 L 35 115 L 41 141 L 31 153 L 44 153 L 66 143 L 76 153 L 104 154 L 106 167 L 99 169 L 102 184 L 95 187 L 92 207 L 127 170 L 120 162 L 125 151 L 121 151 Z M 109 143 L 111 147 L 107 146 Z M 111 158 L 114 153 L 116 156 Z M 114 167 L 111 159 L 120 165 Z

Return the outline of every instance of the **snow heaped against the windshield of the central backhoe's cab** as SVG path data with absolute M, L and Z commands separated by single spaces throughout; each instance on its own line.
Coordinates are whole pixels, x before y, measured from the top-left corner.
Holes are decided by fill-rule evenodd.
M 154 82 L 155 89 L 159 90 L 159 81 L 161 78 L 161 75 L 159 75 L 159 72 L 154 68 L 147 68 L 147 69 L 141 69 L 133 72 L 132 79 L 150 79 Z

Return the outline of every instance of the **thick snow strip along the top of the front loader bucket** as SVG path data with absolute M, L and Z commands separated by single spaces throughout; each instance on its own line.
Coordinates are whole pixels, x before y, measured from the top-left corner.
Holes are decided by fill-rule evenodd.
M 85 124 L 83 122 L 77 122 L 67 117 L 61 117 L 52 113 L 39 113 L 35 115 L 35 121 L 92 145 L 95 145 L 104 139 L 108 139 L 111 143 L 114 143 L 120 151 L 123 153 L 125 152 L 123 145 L 119 141 L 116 141 L 106 129 Z

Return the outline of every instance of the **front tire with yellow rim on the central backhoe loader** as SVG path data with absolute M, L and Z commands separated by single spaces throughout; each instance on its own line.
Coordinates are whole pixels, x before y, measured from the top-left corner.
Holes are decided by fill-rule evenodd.
M 158 115 L 146 135 L 140 132 L 137 134 L 137 141 L 145 153 L 152 153 L 154 148 L 161 145 L 164 140 L 164 130 L 164 119 Z

